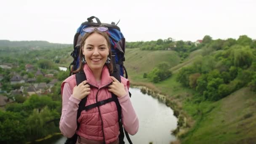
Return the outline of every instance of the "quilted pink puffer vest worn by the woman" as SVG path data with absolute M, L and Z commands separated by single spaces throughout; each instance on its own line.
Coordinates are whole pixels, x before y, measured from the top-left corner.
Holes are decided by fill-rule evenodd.
M 93 76 L 91 69 L 85 64 L 83 68 L 87 81 L 89 84 L 96 86 L 97 82 Z M 124 86 L 129 87 L 128 80 L 121 77 L 121 82 Z M 64 83 L 68 83 L 71 91 L 76 85 L 75 75 L 68 77 L 61 84 L 61 93 L 63 91 Z M 111 93 L 108 91 L 107 86 L 112 83 L 109 77 L 109 70 L 107 66 L 104 66 L 101 73 L 101 84 L 99 87 L 90 87 L 91 93 L 87 96 L 87 101 L 85 106 L 96 103 L 96 93 L 97 100 L 102 101 L 112 97 Z M 105 142 L 111 143 L 117 140 L 119 136 L 119 125 L 118 125 L 118 114 L 117 107 L 114 101 L 98 107 L 89 109 L 88 111 L 82 111 L 80 117 L 78 118 L 80 123 L 79 130 L 77 134 L 89 140 L 103 141 L 103 131 Z M 102 131 L 103 130 L 103 131 Z

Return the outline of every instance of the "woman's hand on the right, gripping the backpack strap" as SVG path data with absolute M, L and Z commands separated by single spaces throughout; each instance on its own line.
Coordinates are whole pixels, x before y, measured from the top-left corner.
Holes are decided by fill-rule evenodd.
M 119 98 L 125 96 L 127 93 L 123 83 L 120 83 L 115 77 L 110 76 L 110 78 L 113 80 L 113 83 L 108 86 L 109 91 Z

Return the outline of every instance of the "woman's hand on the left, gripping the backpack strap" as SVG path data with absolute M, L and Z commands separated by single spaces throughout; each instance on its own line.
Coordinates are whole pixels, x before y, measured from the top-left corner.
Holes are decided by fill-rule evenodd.
M 86 84 L 87 80 L 80 83 L 78 86 L 76 85 L 73 89 L 73 97 L 77 99 L 83 99 L 85 96 L 90 94 L 90 85 Z

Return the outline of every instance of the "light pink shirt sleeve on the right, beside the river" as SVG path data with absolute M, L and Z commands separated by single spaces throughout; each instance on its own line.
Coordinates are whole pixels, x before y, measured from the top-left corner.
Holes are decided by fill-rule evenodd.
M 126 86 L 125 91 L 127 92 L 127 94 L 121 98 L 118 98 L 118 101 L 122 107 L 123 126 L 125 128 L 125 131 L 127 131 L 131 135 L 135 135 L 139 130 L 139 119 L 131 104 L 128 88 Z

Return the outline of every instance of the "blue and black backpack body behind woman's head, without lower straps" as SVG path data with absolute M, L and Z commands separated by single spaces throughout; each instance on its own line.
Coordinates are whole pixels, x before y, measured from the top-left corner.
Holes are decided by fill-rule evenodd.
M 93 19 L 96 19 L 97 23 L 93 22 Z M 87 19 L 88 21 L 85 21 L 81 24 L 80 27 L 78 27 L 77 32 L 74 37 L 74 51 L 72 51 L 71 56 L 73 57 L 73 62 L 69 65 L 69 75 L 74 74 L 73 72 L 78 69 L 79 67 L 79 51 L 80 51 L 80 45 L 81 45 L 81 40 L 85 32 L 83 32 L 83 29 L 86 27 L 99 27 L 99 26 L 104 26 L 108 28 L 109 31 L 109 40 L 111 42 L 111 52 L 112 52 L 112 63 L 113 63 L 113 70 L 114 70 L 114 76 L 115 75 L 121 75 L 124 76 L 125 78 L 128 78 L 127 71 L 123 65 L 123 61 L 125 61 L 125 38 L 120 31 L 120 28 L 117 27 L 117 24 L 115 22 L 112 22 L 111 24 L 105 24 L 101 23 L 101 21 L 95 17 L 91 16 Z M 115 59 L 115 61 L 114 61 Z M 73 65 L 72 69 L 70 67 Z M 117 79 L 120 81 L 120 79 Z

